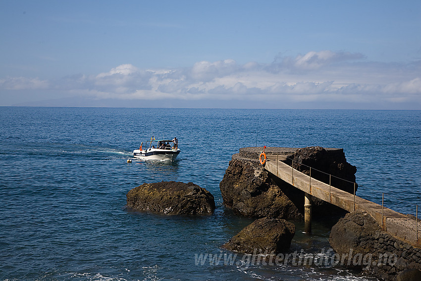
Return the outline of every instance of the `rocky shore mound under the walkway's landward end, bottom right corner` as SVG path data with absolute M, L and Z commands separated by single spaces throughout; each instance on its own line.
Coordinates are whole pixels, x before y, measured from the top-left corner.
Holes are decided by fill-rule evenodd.
M 362 269 L 381 279 L 394 281 L 404 270 L 421 270 L 421 249 L 386 233 L 361 211 L 339 220 L 332 227 L 329 242 L 341 257 L 341 265 Z

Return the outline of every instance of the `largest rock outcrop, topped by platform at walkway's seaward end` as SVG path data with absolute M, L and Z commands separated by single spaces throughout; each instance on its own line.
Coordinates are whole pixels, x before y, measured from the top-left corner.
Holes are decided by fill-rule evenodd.
M 264 171 L 258 160 L 261 150 L 262 148 L 241 148 L 239 154 L 233 155 L 219 184 L 225 206 L 246 217 L 302 217 L 304 193 Z M 292 165 L 293 159 L 294 168 L 307 174 L 310 173 L 308 166 L 312 167 L 312 177 L 326 183 L 329 183 L 329 176 L 325 173 L 355 181 L 356 168 L 347 163 L 342 149 L 267 147 L 265 152 L 268 157 L 287 157 L 282 161 L 288 165 Z M 337 179 L 330 179 L 332 186 L 335 186 Z M 347 181 L 342 181 L 335 187 L 354 191 L 354 184 Z M 344 211 L 313 197 L 313 214 L 323 216 L 326 213 L 344 214 Z

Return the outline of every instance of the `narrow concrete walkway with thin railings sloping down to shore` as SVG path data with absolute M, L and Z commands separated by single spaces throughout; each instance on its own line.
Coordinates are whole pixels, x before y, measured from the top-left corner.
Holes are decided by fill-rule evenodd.
M 338 206 L 348 212 L 362 210 L 370 214 L 376 222 L 388 233 L 397 236 L 411 244 L 420 246 L 421 239 L 419 239 L 420 224 L 408 216 L 395 212 L 388 208 L 358 197 L 354 194 L 348 193 L 341 189 L 321 182 L 315 178 L 306 175 L 291 166 L 283 163 L 286 156 L 282 155 L 268 155 L 264 169 L 286 181 L 294 187 L 302 190 L 305 194 L 310 194 L 323 201 L 329 202 Z M 311 196 L 309 196 L 311 197 Z M 306 198 L 306 201 L 308 199 Z M 307 201 L 307 203 L 309 203 Z M 311 203 L 311 202 L 310 202 Z M 306 205 L 305 205 L 306 207 Z M 310 209 L 311 210 L 311 209 Z M 310 211 L 311 212 L 311 211 Z

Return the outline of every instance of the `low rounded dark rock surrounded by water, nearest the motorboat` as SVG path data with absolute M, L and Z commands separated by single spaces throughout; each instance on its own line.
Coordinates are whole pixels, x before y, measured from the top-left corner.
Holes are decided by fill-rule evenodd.
M 192 182 L 144 183 L 127 193 L 127 207 L 167 215 L 211 214 L 212 194 Z

